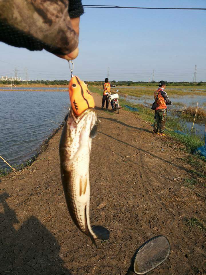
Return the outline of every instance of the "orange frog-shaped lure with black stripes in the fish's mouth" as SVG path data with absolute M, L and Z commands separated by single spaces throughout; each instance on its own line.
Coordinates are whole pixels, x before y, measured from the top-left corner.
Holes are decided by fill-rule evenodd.
M 81 115 L 86 109 L 94 108 L 94 98 L 84 81 L 78 76 L 73 76 L 69 83 L 69 94 L 72 110 L 76 115 Z

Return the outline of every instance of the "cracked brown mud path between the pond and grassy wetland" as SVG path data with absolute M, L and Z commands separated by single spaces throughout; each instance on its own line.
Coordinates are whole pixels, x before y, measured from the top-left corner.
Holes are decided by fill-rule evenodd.
M 95 95 L 96 106 L 101 97 Z M 165 235 L 171 253 L 151 274 L 206 274 L 205 189 L 183 185 L 189 165 L 176 143 L 152 135 L 134 114 L 96 107 L 101 124 L 90 159 L 91 224 L 110 230 L 108 241 L 89 237 L 72 222 L 60 180 L 61 131 L 28 169 L 0 182 L 0 274 L 126 274 L 136 249 Z M 132 156 L 135 155 L 135 156 Z M 127 157 L 132 156 L 132 157 Z

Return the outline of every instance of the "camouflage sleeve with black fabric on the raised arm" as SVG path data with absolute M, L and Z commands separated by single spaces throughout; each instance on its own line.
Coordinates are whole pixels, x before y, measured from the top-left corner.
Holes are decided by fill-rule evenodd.
M 32 51 L 69 54 L 77 48 L 78 36 L 68 11 L 72 18 L 80 16 L 81 1 L 1 0 L 0 41 Z

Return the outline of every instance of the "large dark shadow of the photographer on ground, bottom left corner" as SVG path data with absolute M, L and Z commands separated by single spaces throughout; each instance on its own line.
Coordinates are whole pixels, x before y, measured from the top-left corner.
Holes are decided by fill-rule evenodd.
M 19 221 L 8 198 L 6 192 L 0 195 L 0 274 L 72 275 L 59 256 L 60 244 L 37 218 L 31 216 L 15 230 Z

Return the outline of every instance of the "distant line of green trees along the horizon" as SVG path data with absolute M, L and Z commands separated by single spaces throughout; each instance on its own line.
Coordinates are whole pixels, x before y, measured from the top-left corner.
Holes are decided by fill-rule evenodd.
M 94 85 L 94 86 L 102 86 L 104 84 L 103 81 L 85 81 L 86 83 L 88 83 L 88 85 Z M 135 85 L 147 85 L 147 86 L 157 86 L 158 82 L 156 81 L 151 81 L 151 82 L 145 82 L 145 81 L 115 81 L 112 80 L 110 81 L 111 83 L 117 85 L 117 86 L 135 86 Z M 22 85 L 22 84 L 27 84 L 28 85 L 33 85 L 33 84 L 38 84 L 38 85 L 68 85 L 69 81 L 68 80 L 30 80 L 30 81 L 18 81 L 18 80 L 14 80 L 14 81 L 8 81 L 8 80 L 0 80 L 0 84 L 5 84 L 5 85 L 11 85 L 15 84 L 15 85 Z M 198 86 L 206 86 L 206 82 L 167 82 L 166 81 L 167 86 L 172 85 L 172 86 L 192 86 L 192 85 L 198 85 Z

